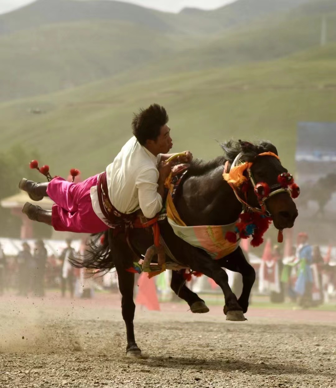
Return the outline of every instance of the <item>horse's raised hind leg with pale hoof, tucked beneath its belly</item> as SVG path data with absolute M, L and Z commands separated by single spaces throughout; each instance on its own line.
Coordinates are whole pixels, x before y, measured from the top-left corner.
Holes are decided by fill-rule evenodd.
M 208 307 L 197 294 L 191 291 L 185 284 L 182 271 L 172 271 L 171 289 L 181 299 L 185 300 L 193 313 L 207 313 Z

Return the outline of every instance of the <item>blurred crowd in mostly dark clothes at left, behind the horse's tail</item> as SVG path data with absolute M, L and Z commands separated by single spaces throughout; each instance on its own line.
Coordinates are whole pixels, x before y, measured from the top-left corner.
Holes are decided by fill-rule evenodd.
M 46 289 L 57 289 L 62 297 L 91 298 L 95 289 L 103 288 L 107 280 L 111 286 L 113 275 L 101 277 L 84 268 L 72 267 L 70 260 L 80 261 L 85 249 L 76 251 L 71 239 L 60 255 L 48 255 L 45 242 L 41 239 L 34 244 L 22 242 L 21 251 L 16 256 L 6 256 L 0 245 L 0 295 L 16 290 L 18 296 L 43 297 Z M 108 279 L 107 279 L 108 278 Z

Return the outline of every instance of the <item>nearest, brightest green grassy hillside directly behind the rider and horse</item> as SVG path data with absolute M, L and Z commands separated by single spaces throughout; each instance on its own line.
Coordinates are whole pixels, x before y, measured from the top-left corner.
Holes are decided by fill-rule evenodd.
M 167 107 L 173 151 L 221 153 L 217 140 L 272 140 L 293 170 L 298 121 L 335 121 L 336 46 L 238 68 L 179 73 L 116 88 L 115 80 L 0 105 L 0 146 L 38 148 L 52 173 L 87 177 L 113 160 L 131 136 L 132 112 Z M 33 114 L 31 108 L 45 113 Z

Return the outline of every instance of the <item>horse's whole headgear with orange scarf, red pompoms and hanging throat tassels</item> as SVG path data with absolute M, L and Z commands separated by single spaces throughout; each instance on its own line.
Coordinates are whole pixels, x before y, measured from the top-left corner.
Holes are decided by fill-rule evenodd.
M 240 238 L 248 238 L 253 236 L 251 241 L 252 246 L 258 246 L 262 244 L 264 239 L 262 236 L 269 228 L 272 222 L 272 215 L 267 210 L 266 201 L 270 197 L 280 194 L 282 192 L 288 193 L 292 198 L 297 198 L 300 194 L 300 189 L 296 183 L 294 183 L 293 176 L 290 173 L 282 173 L 277 177 L 277 184 L 269 186 L 265 182 L 256 182 L 253 177 L 251 167 L 252 162 L 241 161 L 243 152 L 240 152 L 234 159 L 229 173 L 227 168 L 229 161 L 225 163 L 223 178 L 231 186 L 236 195 L 238 201 L 243 205 L 243 213 L 240 215 L 240 220 L 236 223 L 235 232 L 227 232 L 226 239 L 231 242 L 237 241 L 237 236 Z M 279 156 L 273 152 L 263 152 L 256 156 L 273 156 L 279 159 Z M 244 176 L 244 172 L 247 172 L 248 178 Z M 253 191 L 257 196 L 260 208 L 251 206 L 247 202 L 248 184 L 251 182 Z M 243 197 L 241 196 L 243 195 Z M 279 230 L 278 242 L 283 241 L 283 231 Z

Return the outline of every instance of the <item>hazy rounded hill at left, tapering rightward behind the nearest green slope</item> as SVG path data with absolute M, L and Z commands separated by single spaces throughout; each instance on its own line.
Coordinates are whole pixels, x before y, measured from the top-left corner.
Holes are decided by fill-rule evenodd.
M 150 45 L 148 44 L 150 42 Z M 107 78 L 193 45 L 126 22 L 53 24 L 0 40 L 0 100 Z

